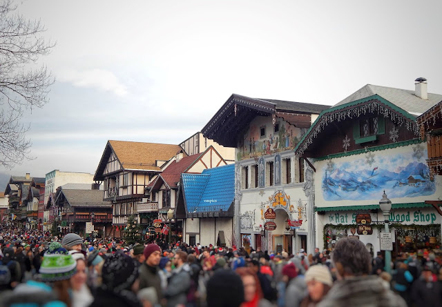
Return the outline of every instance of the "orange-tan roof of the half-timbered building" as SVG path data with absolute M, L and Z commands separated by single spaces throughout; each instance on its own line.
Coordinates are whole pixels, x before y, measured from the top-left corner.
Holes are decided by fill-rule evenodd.
M 112 152 L 115 152 L 119 164 L 124 170 L 159 172 L 161 168 L 157 166 L 157 161 L 169 161 L 181 151 L 184 152 L 179 145 L 110 140 L 106 144 L 102 159 L 99 161 L 94 180 L 104 179 L 103 172 Z

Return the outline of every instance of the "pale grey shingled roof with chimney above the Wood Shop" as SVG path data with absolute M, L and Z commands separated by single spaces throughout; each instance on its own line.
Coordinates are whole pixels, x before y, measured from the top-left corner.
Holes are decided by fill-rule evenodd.
M 388 88 L 387 86 L 367 84 L 359 90 L 356 90 L 352 95 L 349 95 L 349 97 L 336 103 L 335 106 L 340 106 L 373 95 L 383 97 L 383 99 L 390 101 L 414 116 L 421 115 L 423 112 L 436 105 L 436 103 L 442 101 L 442 95 L 439 94 L 428 93 L 428 99 L 421 99 L 414 95 L 414 90 L 403 90 L 401 88 Z

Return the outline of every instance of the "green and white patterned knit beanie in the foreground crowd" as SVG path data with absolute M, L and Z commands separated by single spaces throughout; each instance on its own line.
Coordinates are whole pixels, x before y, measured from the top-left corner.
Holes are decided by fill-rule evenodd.
M 77 270 L 77 262 L 58 242 L 52 242 L 44 253 L 40 267 L 42 281 L 69 279 Z

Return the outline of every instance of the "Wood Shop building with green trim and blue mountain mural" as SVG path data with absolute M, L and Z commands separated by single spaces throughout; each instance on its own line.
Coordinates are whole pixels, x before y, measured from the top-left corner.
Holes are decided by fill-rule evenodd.
M 416 115 L 442 95 L 421 95 L 421 83 L 416 79 L 414 91 L 368 84 L 321 112 L 302 137 L 295 154 L 309 163 L 314 190 L 309 209 L 316 237 L 310 248 L 332 249 L 351 232 L 375 255 L 381 249 L 384 192 L 392 201 L 393 255 L 436 245 L 440 217 L 425 200 L 442 190 L 425 163 L 427 146 Z

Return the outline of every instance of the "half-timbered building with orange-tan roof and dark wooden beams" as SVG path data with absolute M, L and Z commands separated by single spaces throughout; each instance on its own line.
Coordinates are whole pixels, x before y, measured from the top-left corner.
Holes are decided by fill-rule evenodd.
M 113 203 L 116 237 L 121 236 L 128 216 L 138 215 L 137 204 L 142 202 L 148 184 L 182 151 L 170 144 L 108 141 L 94 179 L 104 182 L 103 199 Z M 158 212 L 157 206 L 148 210 Z

